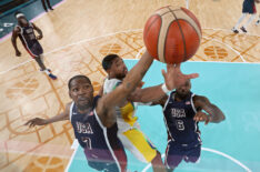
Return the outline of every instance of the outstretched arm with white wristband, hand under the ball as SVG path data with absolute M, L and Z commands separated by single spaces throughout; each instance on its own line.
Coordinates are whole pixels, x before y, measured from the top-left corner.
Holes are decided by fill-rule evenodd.
M 171 91 L 179 85 L 182 85 L 188 79 L 198 78 L 198 73 L 183 74 L 180 70 L 180 64 L 167 64 L 167 72 L 162 70 L 164 85 L 159 84 L 146 89 L 137 89 L 129 98 L 133 102 L 154 102 L 167 94 L 167 90 Z M 164 89 L 163 89 L 164 87 Z

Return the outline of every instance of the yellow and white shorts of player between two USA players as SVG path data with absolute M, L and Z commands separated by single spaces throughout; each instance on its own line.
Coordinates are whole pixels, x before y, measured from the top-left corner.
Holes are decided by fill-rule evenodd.
M 156 146 L 137 128 L 118 133 L 123 146 L 129 150 L 139 161 L 149 163 L 157 155 Z

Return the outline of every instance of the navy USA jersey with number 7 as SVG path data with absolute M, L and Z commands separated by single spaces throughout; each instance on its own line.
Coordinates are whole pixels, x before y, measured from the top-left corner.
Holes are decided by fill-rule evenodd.
M 98 97 L 94 98 L 94 104 Z M 74 136 L 79 144 L 84 149 L 89 164 L 92 162 L 117 163 L 124 160 L 126 153 L 122 143 L 117 136 L 118 125 L 106 128 L 93 110 L 88 114 L 78 112 L 74 103 L 70 107 L 70 120 L 74 129 Z

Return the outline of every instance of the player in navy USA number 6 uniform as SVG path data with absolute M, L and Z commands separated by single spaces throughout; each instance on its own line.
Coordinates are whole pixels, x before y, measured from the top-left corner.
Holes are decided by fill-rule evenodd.
M 168 130 L 166 166 L 173 171 L 182 160 L 196 163 L 201 152 L 199 121 L 219 123 L 224 114 L 208 98 L 196 95 L 191 91 L 190 80 L 164 97 L 159 103 L 163 108 Z

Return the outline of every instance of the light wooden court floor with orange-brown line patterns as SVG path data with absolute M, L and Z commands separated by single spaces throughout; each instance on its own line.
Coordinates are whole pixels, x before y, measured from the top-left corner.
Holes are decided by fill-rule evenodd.
M 69 121 L 33 129 L 23 123 L 63 111 L 70 101 L 67 82 L 74 74 L 90 77 L 98 91 L 106 77 L 100 65 L 106 54 L 140 58 L 146 20 L 168 4 L 187 7 L 187 1 L 64 0 L 37 19 L 34 23 L 43 31 L 46 63 L 58 75 L 57 81 L 39 72 L 21 43 L 22 57 L 18 58 L 10 38 L 1 41 L 0 171 L 63 171 L 72 154 Z M 230 31 L 241 4 L 242 0 L 189 0 L 189 9 L 203 28 L 200 49 L 191 61 L 260 62 L 260 26 L 253 22 L 248 34 Z

